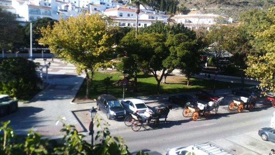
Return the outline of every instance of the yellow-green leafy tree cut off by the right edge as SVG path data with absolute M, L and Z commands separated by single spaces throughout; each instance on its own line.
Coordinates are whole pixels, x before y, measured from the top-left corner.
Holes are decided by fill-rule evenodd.
M 259 80 L 261 87 L 275 91 L 275 7 L 269 9 L 266 18 L 269 22 L 262 22 L 262 29 L 251 32 L 252 37 L 257 40 L 252 46 L 260 53 L 248 56 L 248 67 L 245 71 L 247 75 Z

